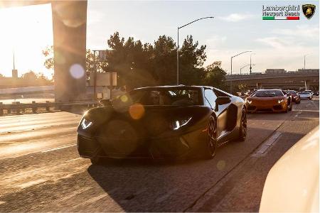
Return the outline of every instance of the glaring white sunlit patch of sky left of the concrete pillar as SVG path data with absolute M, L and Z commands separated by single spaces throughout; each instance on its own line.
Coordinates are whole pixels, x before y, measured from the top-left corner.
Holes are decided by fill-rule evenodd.
M 11 77 L 13 54 L 18 75 L 28 70 L 51 78 L 44 67 L 42 50 L 53 45 L 50 4 L 0 9 L 0 73 Z

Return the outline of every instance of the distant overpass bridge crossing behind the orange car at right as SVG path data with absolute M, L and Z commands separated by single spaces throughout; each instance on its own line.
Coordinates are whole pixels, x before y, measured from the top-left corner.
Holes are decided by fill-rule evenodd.
M 319 69 L 298 70 L 283 73 L 252 72 L 251 74 L 226 75 L 227 84 L 233 84 L 233 91 L 239 85 L 247 89 L 314 89 L 319 90 Z

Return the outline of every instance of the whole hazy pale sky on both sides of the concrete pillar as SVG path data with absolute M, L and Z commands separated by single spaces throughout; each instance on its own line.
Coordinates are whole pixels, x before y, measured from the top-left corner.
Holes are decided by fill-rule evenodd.
M 262 21 L 262 5 L 315 4 L 316 13 L 308 20 L 300 10 L 299 21 Z M 159 35 L 176 40 L 176 28 L 196 18 L 214 16 L 180 30 L 180 41 L 193 35 L 207 45 L 205 65 L 221 60 L 230 72 L 230 57 L 252 50 L 254 72 L 267 68 L 297 70 L 319 68 L 318 1 L 88 1 L 87 48 L 105 49 L 116 31 L 124 38 L 133 36 L 154 43 Z M 41 50 L 52 45 L 50 5 L 0 10 L 0 73 L 10 76 L 12 51 L 16 52 L 19 74 L 28 70 L 45 72 Z M 11 23 L 14 23 L 14 28 Z M 3 33 L 4 32 L 4 33 Z M 180 43 L 180 45 L 181 45 Z M 15 48 L 13 48 L 15 44 Z M 233 60 L 233 73 L 250 62 L 250 53 Z M 248 72 L 248 67 L 242 72 Z

